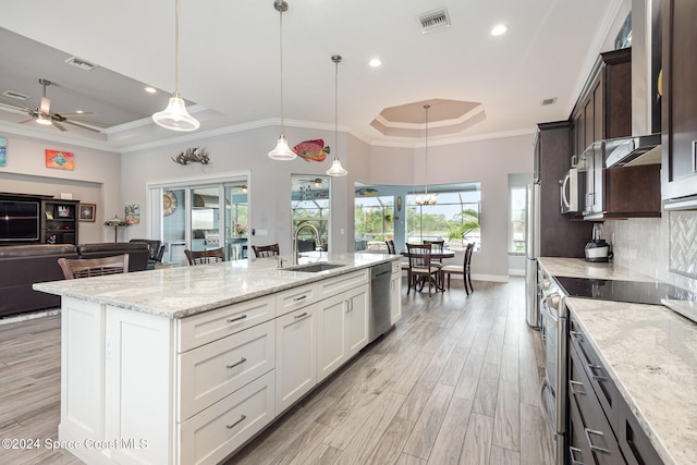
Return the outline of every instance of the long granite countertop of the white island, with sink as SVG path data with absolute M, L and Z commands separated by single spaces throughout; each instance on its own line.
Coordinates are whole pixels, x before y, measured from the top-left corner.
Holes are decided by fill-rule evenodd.
M 277 257 L 250 258 L 42 282 L 34 284 L 34 289 L 166 318 L 183 318 L 400 258 L 399 255 L 382 254 L 309 253 L 301 258 L 301 264 L 330 261 L 345 266 L 301 272 L 279 269 Z M 285 260 L 285 268 L 289 262 Z

